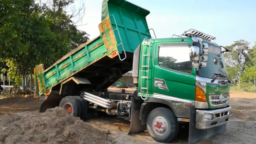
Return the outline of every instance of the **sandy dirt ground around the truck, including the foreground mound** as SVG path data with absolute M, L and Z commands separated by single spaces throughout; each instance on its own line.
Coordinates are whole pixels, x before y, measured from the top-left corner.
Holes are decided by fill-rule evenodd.
M 227 131 L 198 144 L 256 143 L 256 93 L 232 91 L 230 95 L 232 111 Z M 147 132 L 127 135 L 130 122 L 126 119 L 96 117 L 83 122 L 58 108 L 38 113 L 43 101 L 34 97 L 0 99 L 0 144 L 158 144 Z M 187 134 L 182 132 L 174 141 L 186 142 Z

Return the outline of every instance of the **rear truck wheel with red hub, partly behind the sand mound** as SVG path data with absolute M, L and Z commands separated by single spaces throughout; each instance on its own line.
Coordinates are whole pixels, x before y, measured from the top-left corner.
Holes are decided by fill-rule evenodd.
M 63 97 L 60 101 L 59 106 L 68 111 L 70 110 L 68 109 L 68 107 L 71 107 L 71 112 L 69 113 L 74 117 L 81 117 L 81 104 L 79 99 L 76 99 L 74 96 Z

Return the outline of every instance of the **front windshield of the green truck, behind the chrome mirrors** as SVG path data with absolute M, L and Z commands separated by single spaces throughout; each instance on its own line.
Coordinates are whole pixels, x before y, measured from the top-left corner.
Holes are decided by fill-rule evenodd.
M 226 66 L 224 62 L 224 56 L 223 53 L 221 53 L 220 47 L 216 47 L 213 45 L 208 45 L 208 54 L 205 54 L 208 56 L 206 62 L 206 67 L 202 67 L 198 70 L 198 76 L 205 77 L 205 78 L 213 78 L 214 74 L 221 74 L 223 76 L 227 77 L 226 72 Z M 218 79 L 226 79 L 226 78 L 220 78 Z

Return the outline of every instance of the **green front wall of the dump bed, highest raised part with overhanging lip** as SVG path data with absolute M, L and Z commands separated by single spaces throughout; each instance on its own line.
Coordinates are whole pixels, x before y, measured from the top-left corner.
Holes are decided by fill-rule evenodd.
M 146 21 L 148 14 L 148 10 L 125 0 L 104 0 L 102 20 L 110 17 L 119 53 L 122 53 L 123 47 L 126 52 L 134 53 L 145 37 L 151 37 Z

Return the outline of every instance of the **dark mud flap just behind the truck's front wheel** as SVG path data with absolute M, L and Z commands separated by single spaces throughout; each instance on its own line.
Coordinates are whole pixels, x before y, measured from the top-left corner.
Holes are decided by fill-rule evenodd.
M 140 107 L 142 102 L 137 101 L 134 97 L 131 97 L 132 105 L 131 105 L 131 123 L 130 123 L 130 130 L 128 134 L 136 134 L 139 132 L 144 132 L 146 130 L 146 125 L 141 125 L 140 120 Z

